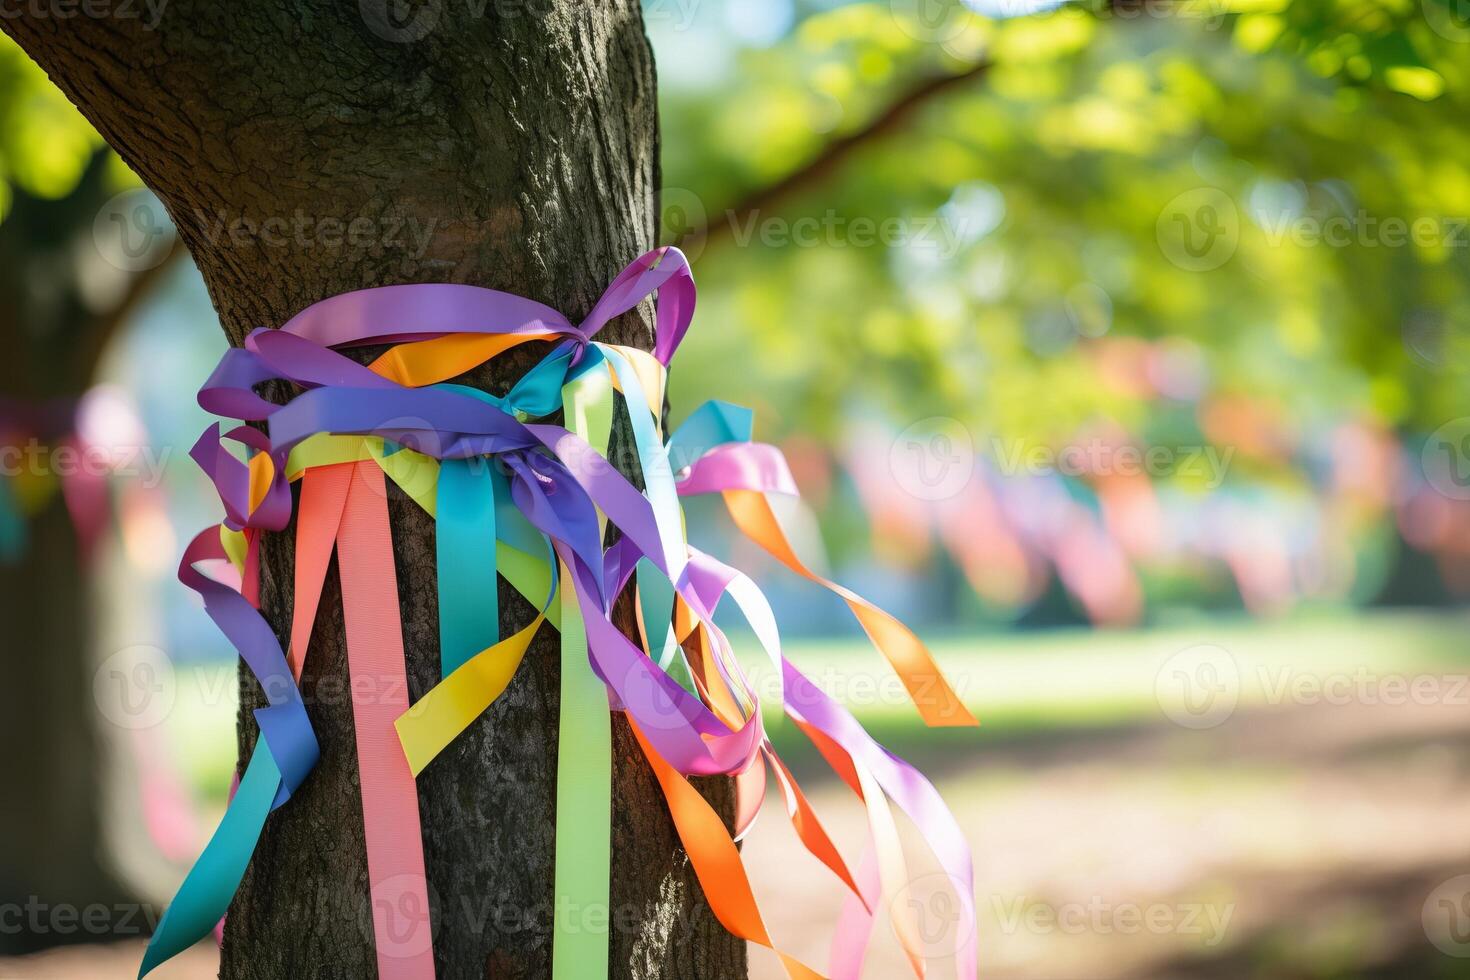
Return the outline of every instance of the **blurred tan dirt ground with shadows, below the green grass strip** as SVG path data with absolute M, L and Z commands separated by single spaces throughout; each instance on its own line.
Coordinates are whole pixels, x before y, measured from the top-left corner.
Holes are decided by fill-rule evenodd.
M 1470 874 L 1463 705 L 1314 705 L 1239 713 L 1202 732 L 1048 733 L 945 763 L 941 789 L 978 855 L 979 927 L 963 940 L 979 943 L 983 977 L 1470 970 L 1438 951 L 1421 924 L 1436 886 Z M 806 788 L 856 857 L 858 807 L 832 780 L 808 777 Z M 784 824 L 767 802 L 747 845 L 757 895 L 776 936 L 823 968 L 841 887 Z M 953 902 L 935 867 L 911 852 L 914 886 L 904 899 L 935 956 L 931 977 L 950 977 Z M 1470 898 L 1464 890 L 1436 902 Z M 910 976 L 886 926 L 876 934 L 864 976 Z M 1451 949 L 1470 954 L 1470 940 Z M 0 961 L 0 977 L 131 979 L 140 955 L 138 943 L 57 951 Z M 156 976 L 210 977 L 213 964 L 200 948 Z M 751 976 L 781 973 L 756 951 Z

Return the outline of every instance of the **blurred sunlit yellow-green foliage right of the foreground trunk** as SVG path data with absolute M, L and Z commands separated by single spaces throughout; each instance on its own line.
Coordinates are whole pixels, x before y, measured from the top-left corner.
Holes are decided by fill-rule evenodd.
M 754 44 L 706 4 L 713 26 L 678 41 L 700 60 L 676 60 L 663 85 L 670 238 L 729 222 L 903 93 L 989 69 L 778 210 L 689 241 L 710 303 L 676 391 L 748 398 L 728 366 L 750 342 L 776 435 L 835 438 L 858 400 L 904 423 L 945 414 L 1061 442 L 1098 417 L 1188 425 L 1191 403 L 1230 394 L 1302 426 L 1354 413 L 1438 426 L 1466 404 L 1470 22 L 1436 4 L 1205 0 L 1008 21 L 956 6 L 920 22 L 906 7 L 922 4 L 895 0 Z M 1238 244 L 1219 267 L 1180 267 L 1172 201 L 1208 188 Z M 820 225 L 814 242 L 788 234 L 798 219 Z M 888 244 L 860 241 L 892 219 Z M 1351 222 L 1345 244 L 1316 239 L 1342 232 L 1330 219 Z M 1416 220 L 1433 232 L 1399 241 L 1395 222 Z M 1167 338 L 1204 389 L 1100 383 L 1129 336 Z

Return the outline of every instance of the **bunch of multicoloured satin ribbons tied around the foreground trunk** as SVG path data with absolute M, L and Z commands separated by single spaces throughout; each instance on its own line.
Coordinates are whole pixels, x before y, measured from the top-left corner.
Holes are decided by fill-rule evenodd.
M 651 354 L 594 341 L 598 331 L 657 294 Z M 141 974 L 190 946 L 220 920 L 272 810 L 318 760 L 298 680 L 332 550 L 343 585 L 357 761 L 379 976 L 434 976 L 431 929 L 409 937 L 387 917 L 429 908 L 415 777 L 510 683 L 532 638 L 560 632 L 562 711 L 557 752 L 557 907 L 607 908 L 610 892 L 610 711 L 626 713 L 669 802 L 711 911 L 736 936 L 776 949 L 757 909 L 736 840 L 754 820 L 766 773 L 804 846 L 847 887 L 829 976 L 857 977 L 882 896 L 903 892 L 907 867 L 891 804 L 920 829 L 973 921 L 970 854 L 933 786 L 879 746 L 836 701 L 785 658 L 775 617 L 756 585 L 685 539 L 681 497 L 720 494 L 736 527 L 801 576 L 836 592 L 888 657 L 925 721 L 975 724 L 923 644 L 861 597 L 822 579 L 797 557 L 769 494 L 795 494 L 781 453 L 751 441 L 751 416 L 707 403 L 664 436 L 666 372 L 694 313 L 694 279 L 676 248 L 634 262 L 592 311 L 573 325 L 556 310 L 463 285 L 381 287 L 309 307 L 281 329 L 259 329 L 229 351 L 200 404 L 241 425 L 212 426 L 193 457 L 215 480 L 225 522 L 187 548 L 179 577 L 204 599 L 259 679 L 268 707 L 260 738 L 225 818 L 185 879 L 148 946 Z M 551 353 L 504 397 L 450 383 L 529 341 Z M 391 344 L 369 364 L 335 348 Z M 284 406 L 256 386 L 288 382 Z M 644 489 L 609 463 L 617 392 L 626 406 Z M 562 414 L 563 425 L 544 422 Z M 265 423 L 265 430 L 245 423 Z M 241 461 L 225 448 L 245 448 Z M 673 461 L 681 464 L 678 469 Z M 262 532 L 293 514 L 295 604 L 290 646 L 259 614 Z M 398 591 L 385 480 L 437 522 L 442 679 L 416 704 L 406 692 Z M 607 527 L 620 533 L 604 547 Z M 206 574 L 226 569 L 238 574 Z M 539 610 L 500 635 L 497 574 Z M 235 588 L 238 583 L 238 589 Z M 625 592 L 638 636 L 614 624 Z M 761 704 L 729 638 L 714 624 L 729 597 L 781 680 L 781 704 L 866 807 L 869 851 L 854 870 L 823 830 L 766 736 Z M 359 685 L 360 679 L 368 680 Z M 359 692 L 368 692 L 359 698 Z M 738 786 L 736 833 L 688 782 L 729 774 Z M 392 892 L 392 893 L 388 893 Z M 911 904 L 894 902 L 892 926 L 925 973 Z M 562 917 L 557 917 L 559 920 Z M 606 932 L 553 936 L 554 976 L 607 976 Z M 817 971 L 776 949 L 792 977 Z M 956 951 L 975 976 L 973 943 Z

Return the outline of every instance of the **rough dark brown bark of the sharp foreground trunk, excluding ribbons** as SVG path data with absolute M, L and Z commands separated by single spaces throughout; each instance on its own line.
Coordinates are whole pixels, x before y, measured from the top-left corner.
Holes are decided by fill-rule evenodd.
M 375 6 L 376 4 L 376 6 Z M 576 319 L 654 241 L 657 106 L 638 4 L 173 0 L 138 19 L 0 21 L 168 206 L 231 341 L 332 294 L 469 282 Z M 85 4 L 82 7 L 85 10 Z M 29 10 L 29 7 L 24 7 Z M 648 347 L 641 310 L 604 339 Z M 472 378 L 504 391 L 544 353 Z M 415 696 L 435 680 L 434 523 L 390 501 Z M 293 532 L 262 599 L 290 623 Z M 504 626 L 529 610 L 503 588 Z M 268 823 L 231 907 L 222 974 L 376 971 L 335 572 L 303 691 L 322 758 Z M 440 977 L 547 977 L 556 639 L 419 780 Z M 254 741 L 243 682 L 241 751 Z M 745 976 L 625 724 L 614 726 L 612 976 Z M 729 810 L 728 780 L 709 792 Z M 539 909 L 539 911 L 538 911 Z

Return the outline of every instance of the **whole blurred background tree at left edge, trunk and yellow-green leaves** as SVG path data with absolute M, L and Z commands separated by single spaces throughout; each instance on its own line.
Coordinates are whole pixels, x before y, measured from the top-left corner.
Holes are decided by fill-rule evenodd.
M 94 225 L 137 181 L 9 40 L 0 38 L 0 445 L 54 450 L 76 435 L 78 406 L 109 341 L 172 267 L 107 262 Z M 13 466 L 13 463 L 9 463 Z M 12 682 L 0 739 L 0 901 L 116 902 L 126 889 L 98 854 L 103 754 L 93 702 L 93 542 L 79 532 L 107 501 L 54 473 L 0 476 L 0 621 Z M 24 788 L 24 789 L 21 789 Z M 4 930 L 0 949 L 66 936 Z

